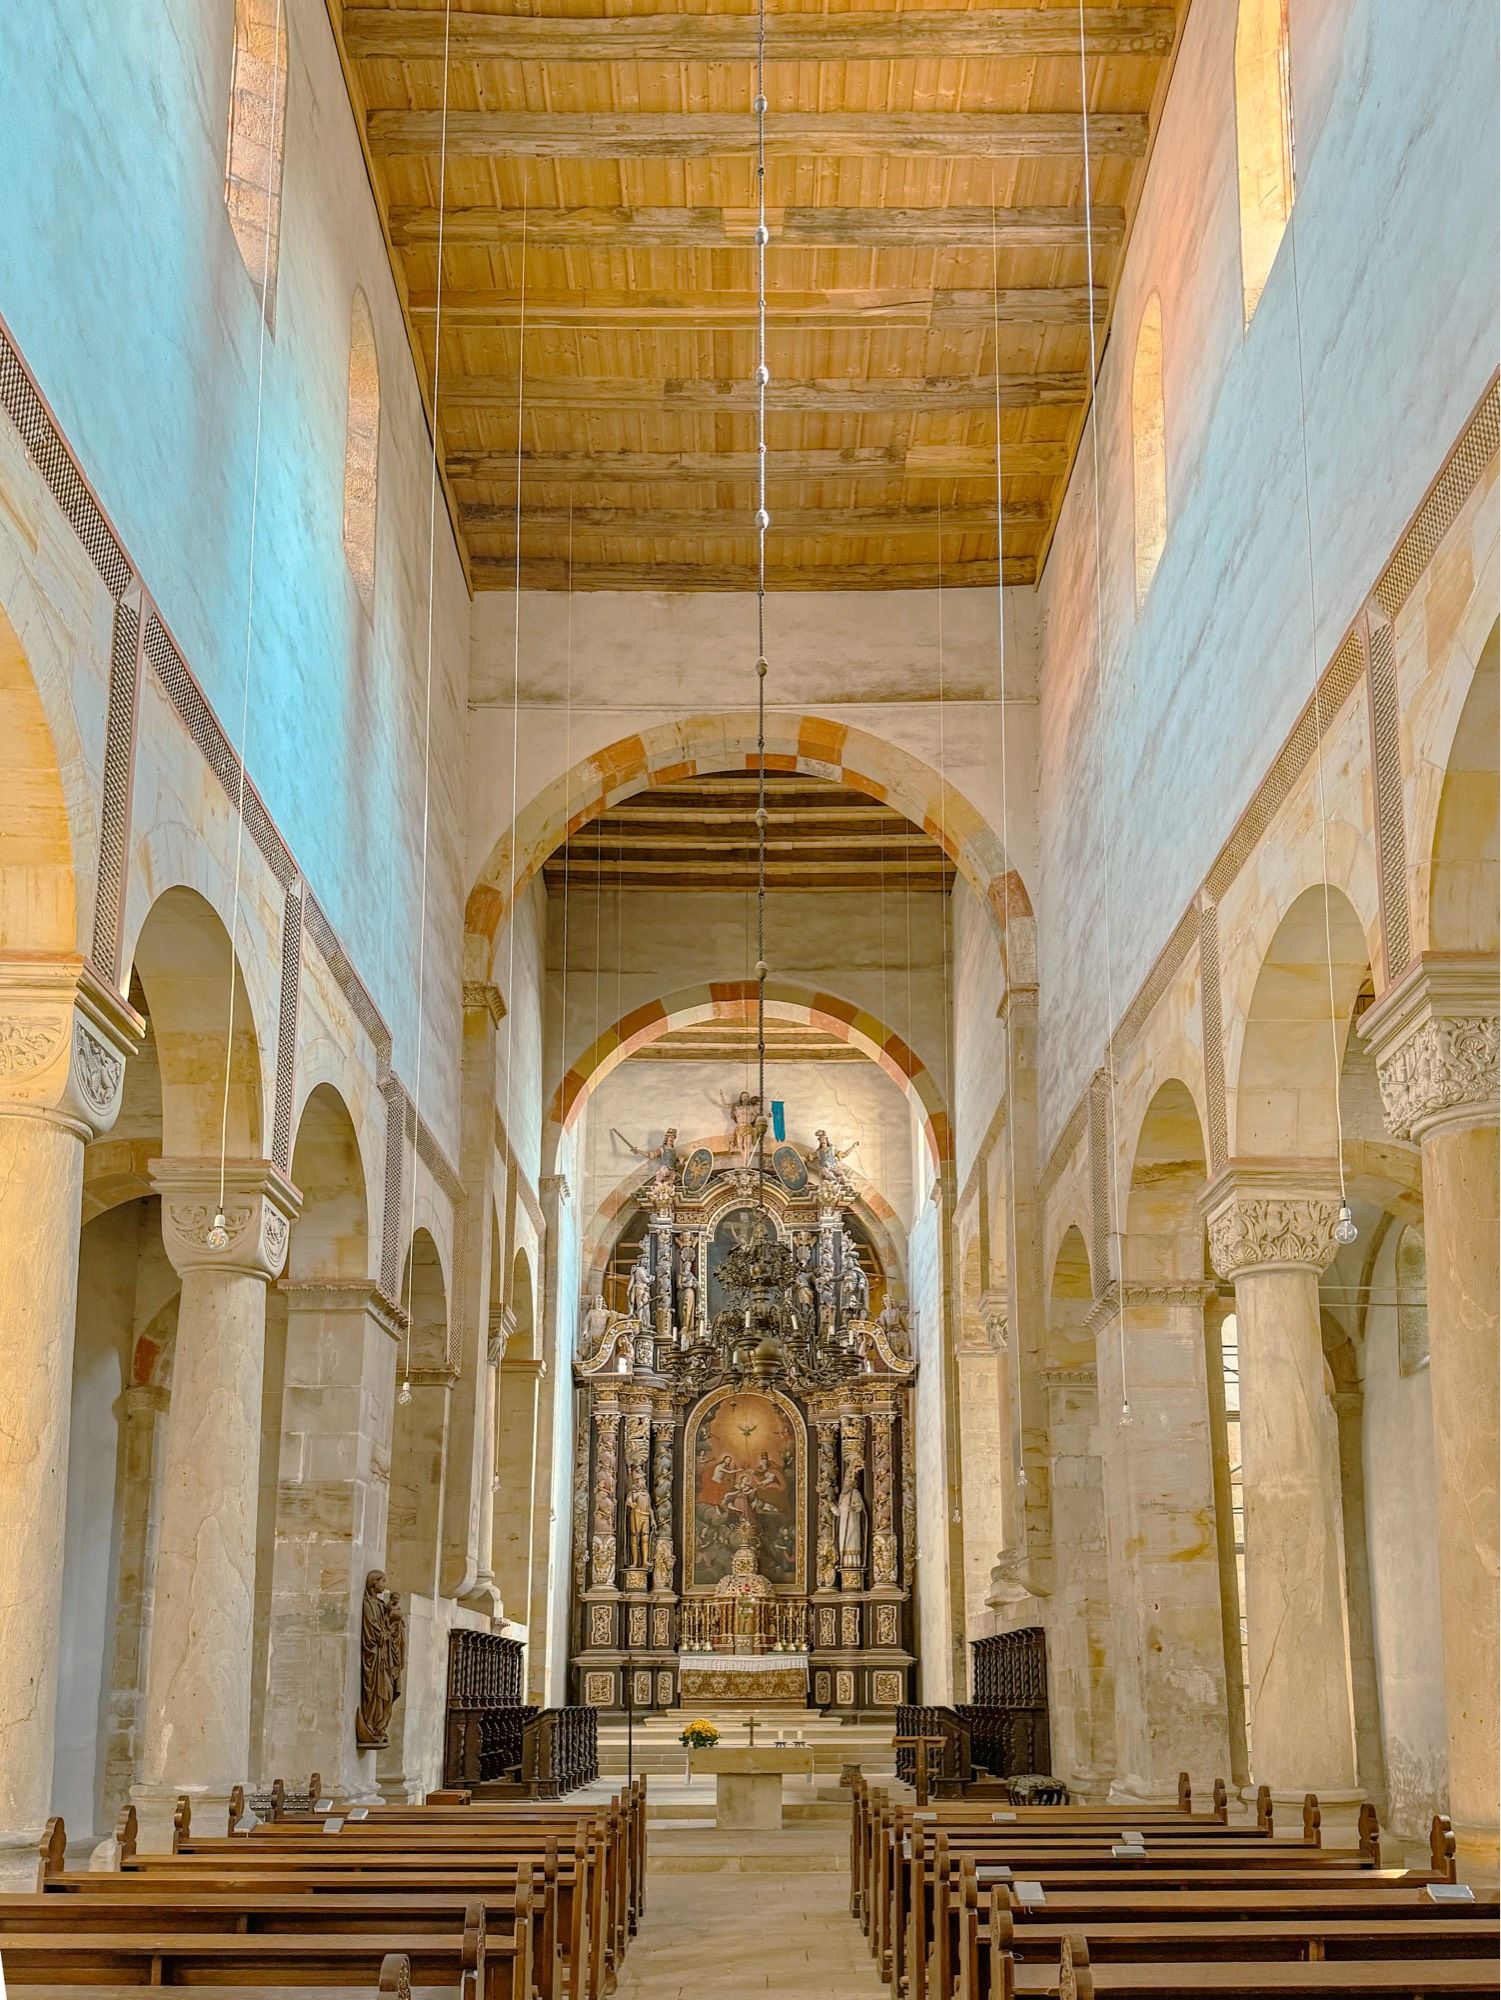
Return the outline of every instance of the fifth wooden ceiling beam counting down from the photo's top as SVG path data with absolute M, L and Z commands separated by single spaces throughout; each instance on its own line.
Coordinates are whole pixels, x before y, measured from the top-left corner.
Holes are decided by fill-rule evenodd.
M 917 380 L 851 382 L 785 382 L 773 380 L 767 390 L 769 410 L 817 410 L 831 416 L 887 416 L 911 410 L 917 416 L 945 410 L 995 410 L 995 376 L 929 376 Z M 1007 410 L 1033 410 L 1041 404 L 1081 404 L 1089 376 L 1073 370 L 1001 376 L 1001 404 Z M 668 380 L 650 378 L 600 380 L 582 376 L 534 376 L 526 372 L 522 388 L 524 410 L 580 410 L 612 416 L 616 410 L 664 412 L 738 412 L 753 416 L 757 390 L 738 380 Z M 516 414 L 516 386 L 504 376 L 450 376 L 442 382 L 446 410 L 494 410 L 496 416 Z

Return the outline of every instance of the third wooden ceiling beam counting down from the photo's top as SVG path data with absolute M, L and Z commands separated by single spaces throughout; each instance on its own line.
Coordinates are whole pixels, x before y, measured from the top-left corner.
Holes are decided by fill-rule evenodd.
M 602 250 L 755 250 L 755 210 L 744 208 L 448 208 L 442 240 L 492 248 L 528 244 Z M 1083 208 L 773 208 L 771 252 L 797 250 L 1077 250 L 1087 242 Z M 392 240 L 436 244 L 436 208 L 394 208 Z M 1121 208 L 1095 206 L 1095 242 L 1119 242 Z

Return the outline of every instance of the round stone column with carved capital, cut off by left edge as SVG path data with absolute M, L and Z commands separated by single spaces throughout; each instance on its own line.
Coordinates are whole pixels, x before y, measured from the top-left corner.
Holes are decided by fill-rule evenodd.
M 84 1144 L 142 1022 L 82 960 L 0 962 L 0 1888 L 36 1886 L 68 1504 Z

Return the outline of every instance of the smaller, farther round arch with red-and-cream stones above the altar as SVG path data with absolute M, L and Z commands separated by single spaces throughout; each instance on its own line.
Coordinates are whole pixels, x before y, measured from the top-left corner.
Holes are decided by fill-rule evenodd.
M 688 1028 L 706 1020 L 753 1020 L 757 1012 L 755 980 L 708 980 L 684 986 L 660 1000 L 648 1000 L 606 1028 L 568 1068 L 548 1104 L 548 1152 L 554 1154 L 562 1134 L 578 1120 L 588 1096 L 626 1056 L 648 1048 L 672 1028 Z M 851 1048 L 859 1048 L 877 1068 L 907 1094 L 923 1124 L 923 1136 L 935 1166 L 953 1158 L 949 1110 L 933 1072 L 907 1042 L 865 1008 L 837 994 L 811 992 L 787 980 L 767 980 L 767 1016 L 793 1022 L 799 1028 L 821 1028 Z

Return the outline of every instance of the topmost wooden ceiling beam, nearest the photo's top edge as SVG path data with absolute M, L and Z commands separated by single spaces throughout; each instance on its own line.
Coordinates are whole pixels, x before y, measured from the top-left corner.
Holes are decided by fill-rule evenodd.
M 1075 8 L 995 6 L 935 14 L 773 14 L 769 62 L 903 62 L 929 58 L 1035 58 L 1079 54 Z M 442 62 L 444 14 L 436 8 L 344 8 L 350 56 Z M 536 20 L 454 12 L 446 24 L 456 62 L 753 62 L 755 14 L 634 14 Z M 1091 56 L 1167 56 L 1171 6 L 1087 8 Z

